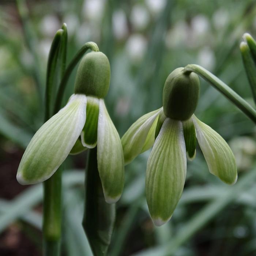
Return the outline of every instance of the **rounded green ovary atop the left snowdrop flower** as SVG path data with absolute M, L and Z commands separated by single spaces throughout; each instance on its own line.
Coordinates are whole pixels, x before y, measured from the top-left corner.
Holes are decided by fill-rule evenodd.
M 102 52 L 90 52 L 80 61 L 75 80 L 75 94 L 104 98 L 109 90 L 110 64 Z

